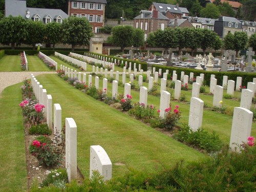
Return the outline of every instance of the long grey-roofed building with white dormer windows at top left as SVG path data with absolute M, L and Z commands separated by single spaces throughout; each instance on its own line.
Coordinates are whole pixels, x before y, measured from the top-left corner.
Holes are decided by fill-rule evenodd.
M 5 16 L 22 16 L 37 22 L 48 24 L 51 22 L 62 23 L 69 16 L 60 9 L 41 9 L 27 7 L 26 1 L 6 0 Z

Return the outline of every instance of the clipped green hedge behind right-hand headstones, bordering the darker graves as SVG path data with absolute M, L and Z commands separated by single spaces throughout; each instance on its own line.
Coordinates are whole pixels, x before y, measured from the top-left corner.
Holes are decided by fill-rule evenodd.
M 217 71 L 204 71 L 204 70 L 196 70 L 196 69 L 187 69 L 187 68 L 178 68 L 178 67 L 166 67 L 166 66 L 152 66 L 156 68 L 156 71 L 159 71 L 159 69 L 162 69 L 162 74 L 165 72 L 166 69 L 169 70 L 169 74 L 173 75 L 173 71 L 176 71 L 177 79 L 181 78 L 181 72 L 184 71 L 185 75 L 190 74 L 190 72 L 194 73 L 194 77 L 200 76 L 200 73 L 204 74 L 204 80 L 206 81 L 206 85 L 210 85 L 210 75 L 214 74 L 215 78 L 217 79 L 217 84 L 222 86 L 223 76 L 228 76 L 228 80 L 237 81 L 237 77 L 242 77 L 242 86 L 247 87 L 248 82 L 252 82 L 253 78 L 256 77 L 255 73 L 245 73 L 245 72 L 217 72 Z

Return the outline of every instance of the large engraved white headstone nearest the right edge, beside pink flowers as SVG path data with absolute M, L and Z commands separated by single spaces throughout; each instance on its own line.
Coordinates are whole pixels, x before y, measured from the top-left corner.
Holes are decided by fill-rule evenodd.
M 253 113 L 245 108 L 234 108 L 229 147 L 234 151 L 236 144 L 247 142 L 251 134 Z M 236 144 L 234 144 L 236 143 Z M 237 147 L 238 148 L 238 147 Z

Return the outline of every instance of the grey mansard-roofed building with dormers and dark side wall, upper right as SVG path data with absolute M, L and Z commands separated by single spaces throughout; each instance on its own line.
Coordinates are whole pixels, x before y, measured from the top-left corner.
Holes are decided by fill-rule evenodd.
M 234 17 L 219 16 L 219 19 L 215 20 L 214 31 L 224 38 L 228 33 L 242 32 L 242 23 Z

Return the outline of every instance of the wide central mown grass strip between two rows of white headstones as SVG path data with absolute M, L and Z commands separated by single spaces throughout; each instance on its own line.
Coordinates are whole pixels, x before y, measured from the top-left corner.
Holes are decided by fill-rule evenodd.
M 205 155 L 155 131 L 134 118 L 117 111 L 76 90 L 57 75 L 40 75 L 37 79 L 60 103 L 62 122 L 74 118 L 77 124 L 77 160 L 84 176 L 89 176 L 90 145 L 101 145 L 113 163 L 113 176 L 133 168 L 153 172 L 157 166 L 174 165 L 180 159 L 198 160 Z M 159 163 L 160 162 L 160 163 Z

